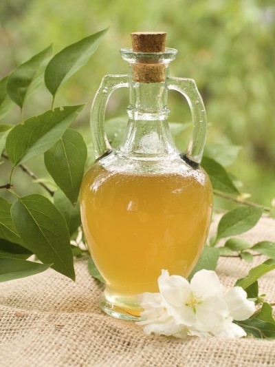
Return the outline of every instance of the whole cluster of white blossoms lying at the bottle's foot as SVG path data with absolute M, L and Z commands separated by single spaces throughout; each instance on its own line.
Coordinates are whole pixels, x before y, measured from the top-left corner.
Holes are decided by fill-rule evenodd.
M 246 299 L 241 287 L 234 287 L 226 295 L 214 271 L 201 270 L 189 283 L 179 275 L 162 270 L 158 279 L 159 293 L 138 296 L 144 311 L 146 333 L 186 337 L 243 337 L 243 328 L 233 319 L 248 319 L 255 311 L 254 302 Z

